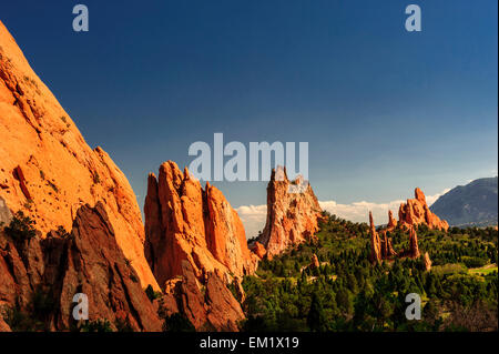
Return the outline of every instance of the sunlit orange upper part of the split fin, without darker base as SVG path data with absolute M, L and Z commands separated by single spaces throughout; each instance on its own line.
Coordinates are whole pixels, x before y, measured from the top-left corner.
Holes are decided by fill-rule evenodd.
M 159 283 L 182 275 L 189 261 L 200 281 L 208 272 L 252 274 L 257 257 L 246 244 L 243 224 L 223 194 L 214 186 L 203 191 L 200 182 L 172 162 L 160 168 L 156 182 L 150 174 L 144 204 L 146 257 Z

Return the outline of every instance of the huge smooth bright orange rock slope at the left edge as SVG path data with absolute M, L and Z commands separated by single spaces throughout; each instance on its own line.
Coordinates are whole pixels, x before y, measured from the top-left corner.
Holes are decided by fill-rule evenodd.
M 71 230 L 80 206 L 101 201 L 140 282 L 157 289 L 126 178 L 101 148 L 85 143 L 1 22 L 0 43 L 0 195 L 34 220 L 42 237 L 59 225 Z

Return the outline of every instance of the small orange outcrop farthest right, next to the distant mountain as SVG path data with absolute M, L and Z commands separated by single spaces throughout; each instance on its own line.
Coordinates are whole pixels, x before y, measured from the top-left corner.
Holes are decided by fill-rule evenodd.
M 398 224 L 410 229 L 419 224 L 425 224 L 429 229 L 445 230 L 449 224 L 434 214 L 426 203 L 425 193 L 419 188 L 415 190 L 415 199 L 408 199 L 407 203 L 401 203 L 398 210 Z

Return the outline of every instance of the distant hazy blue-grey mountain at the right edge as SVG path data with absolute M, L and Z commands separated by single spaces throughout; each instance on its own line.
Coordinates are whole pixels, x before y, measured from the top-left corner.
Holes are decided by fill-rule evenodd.
M 497 176 L 458 185 L 441 195 L 430 210 L 451 226 L 497 225 Z

